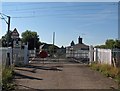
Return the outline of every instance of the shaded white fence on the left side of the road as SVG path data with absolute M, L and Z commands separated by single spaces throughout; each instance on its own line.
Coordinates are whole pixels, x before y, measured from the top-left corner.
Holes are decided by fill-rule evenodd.
M 26 65 L 29 63 L 28 47 L 26 45 L 24 46 L 24 49 L 20 49 L 20 48 L 12 49 L 12 48 L 1 47 L 0 53 L 1 53 L 0 62 L 2 63 L 2 65 L 6 65 L 8 61 L 10 62 L 9 64 L 22 63 Z

